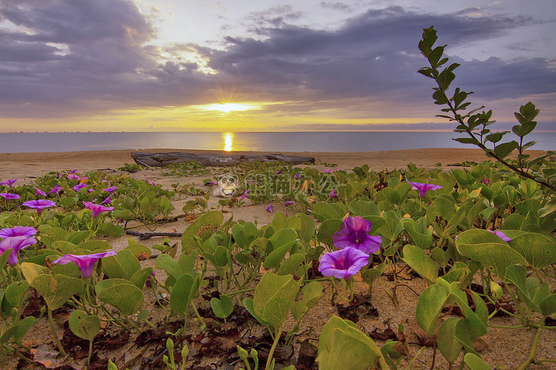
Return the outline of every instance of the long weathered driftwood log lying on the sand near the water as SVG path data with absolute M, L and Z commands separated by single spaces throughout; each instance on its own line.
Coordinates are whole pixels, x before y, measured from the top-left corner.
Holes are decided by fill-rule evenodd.
M 292 164 L 314 163 L 313 157 L 295 157 L 282 154 L 197 154 L 197 153 L 131 153 L 138 165 L 164 167 L 172 163 L 195 161 L 204 166 L 237 165 L 251 162 L 286 162 Z

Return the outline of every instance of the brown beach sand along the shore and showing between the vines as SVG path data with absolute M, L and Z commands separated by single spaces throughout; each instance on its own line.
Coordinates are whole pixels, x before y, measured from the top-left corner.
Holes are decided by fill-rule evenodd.
M 63 153 L 0 153 L 0 180 L 17 178 L 20 183 L 32 183 L 34 178 L 49 173 L 51 171 L 61 170 L 78 170 L 79 173 L 86 173 L 88 170 L 115 170 L 122 167 L 125 163 L 133 163 L 130 153 L 135 150 L 99 150 L 87 152 L 63 152 Z M 171 149 L 140 149 L 137 151 L 142 152 L 175 152 L 180 150 Z M 202 150 L 181 150 L 191 153 L 202 153 Z M 217 152 L 225 153 L 225 152 Z M 234 152 L 234 153 L 253 153 L 253 152 Z M 538 155 L 540 151 L 532 151 L 531 155 Z M 312 156 L 316 159 L 314 167 L 319 169 L 326 168 L 324 163 L 334 163 L 338 165 L 336 168 L 344 168 L 350 170 L 356 166 L 369 164 L 374 170 L 382 170 L 384 168 L 406 168 L 408 163 L 415 163 L 424 168 L 442 168 L 443 170 L 451 170 L 458 168 L 455 166 L 448 166 L 449 164 L 461 163 L 462 161 L 476 161 L 480 162 L 487 159 L 482 150 L 475 149 L 419 149 L 419 150 L 393 150 L 381 152 L 349 152 L 349 153 L 327 153 L 327 152 L 297 152 L 297 153 L 283 153 L 284 155 L 303 155 Z M 437 163 L 441 163 L 438 167 Z M 160 169 L 155 170 L 142 170 L 138 173 L 130 174 L 133 178 L 148 178 L 156 183 L 162 184 L 164 187 L 170 186 L 173 183 L 195 183 L 197 186 L 202 186 L 202 179 L 207 178 L 181 178 L 175 175 L 163 176 Z M 186 197 L 181 197 L 176 200 L 175 213 L 181 213 L 182 205 L 187 201 Z M 217 198 L 210 200 L 210 205 L 215 205 Z M 235 207 L 225 213 L 225 217 L 230 217 L 234 214 L 234 220 L 257 220 L 259 227 L 269 223 L 274 215 L 267 212 L 267 204 L 249 205 L 244 207 Z M 280 204 L 274 204 L 274 212 L 286 211 L 287 209 Z M 158 225 L 156 231 L 158 232 L 182 232 L 187 227 L 187 222 L 178 220 L 164 225 Z M 135 229 L 137 231 L 146 232 L 145 227 Z M 108 242 L 113 245 L 114 250 L 120 250 L 127 245 L 127 238 L 125 235 L 116 238 L 109 238 Z M 173 242 L 179 242 L 179 238 L 175 238 Z M 151 247 L 155 243 L 160 243 L 160 238 L 152 238 L 150 240 L 140 241 L 140 244 Z M 141 262 L 143 267 L 154 267 L 154 259 Z M 162 272 L 163 273 L 163 272 Z M 157 274 L 160 274 L 158 271 Z M 393 284 L 383 279 L 386 289 L 391 289 Z M 552 287 L 555 286 L 552 281 Z M 421 279 L 413 279 L 411 282 L 406 282 L 416 292 L 422 292 L 426 288 L 426 284 Z M 366 293 L 365 284 L 356 285 L 357 292 L 360 294 Z M 326 292 L 329 293 L 329 287 L 326 287 Z M 358 323 L 359 329 L 364 332 L 371 332 L 375 329 L 382 331 L 386 327 L 396 329 L 398 324 L 404 324 L 407 330 L 408 339 L 417 341 L 416 336 L 409 329 L 410 325 L 408 320 L 415 317 L 415 307 L 418 297 L 413 294 L 409 289 L 400 288 L 398 291 L 400 296 L 400 309 L 396 310 L 393 307 L 391 300 L 386 296 L 380 284 L 375 284 L 371 304 L 379 310 L 379 317 L 366 317 L 361 319 Z M 147 293 L 145 293 L 145 296 Z M 325 293 L 326 296 L 326 293 Z M 145 297 L 145 299 L 148 299 Z M 150 307 L 148 307 L 150 308 Z M 311 310 L 309 315 L 302 322 L 304 329 L 308 329 L 309 325 L 319 332 L 319 328 L 326 322 L 332 314 L 335 314 L 336 309 L 329 303 L 329 297 L 323 297 L 318 304 Z M 163 318 L 161 318 L 163 319 Z M 193 317 L 190 317 L 190 322 L 194 322 Z M 508 319 L 494 319 L 493 324 L 513 324 L 515 322 L 508 322 Z M 193 324 L 192 324 L 193 325 Z M 58 328 L 61 332 L 61 328 Z M 556 349 L 556 335 L 555 330 L 544 330 L 540 345 L 537 349 L 537 358 L 555 358 L 554 352 Z M 488 344 L 488 348 L 480 352 L 485 361 L 488 361 L 492 366 L 506 366 L 507 369 L 516 369 L 522 361 L 525 360 L 530 350 L 530 343 L 534 331 L 532 329 L 518 329 L 518 330 L 503 330 L 503 329 L 489 329 L 489 333 L 483 336 L 482 339 Z M 300 339 L 301 340 L 301 339 Z M 51 343 L 51 334 L 46 326 L 46 323 L 38 323 L 34 326 L 32 334 L 28 334 L 24 339 L 24 343 L 29 346 L 37 346 L 42 343 Z M 383 343 L 377 341 L 381 346 Z M 415 355 L 421 346 L 411 344 L 409 346 L 410 355 Z M 129 353 L 125 352 L 128 349 Z M 108 354 L 101 354 L 101 356 L 108 356 L 113 360 L 120 360 L 117 362 L 121 366 L 123 359 L 128 359 L 133 355 L 135 347 L 123 346 L 122 349 L 113 351 Z M 411 367 L 412 369 L 428 369 L 431 366 L 432 349 L 427 348 L 417 361 Z M 212 359 L 214 361 L 214 359 Z M 459 364 L 460 360 L 456 361 Z M 210 363 L 210 362 L 209 362 Z M 0 369 L 14 369 L 14 359 L 4 365 L 0 364 Z M 3 367 L 9 366 L 9 367 Z M 404 366 L 405 367 L 405 366 Z M 542 367 L 542 369 L 549 369 L 550 367 Z M 26 367 L 25 369 L 41 369 L 41 367 Z M 130 369 L 139 369 L 137 366 L 130 366 Z M 448 369 L 448 363 L 443 359 L 441 354 L 436 354 L 435 369 Z M 539 367 L 540 369 L 540 367 Z

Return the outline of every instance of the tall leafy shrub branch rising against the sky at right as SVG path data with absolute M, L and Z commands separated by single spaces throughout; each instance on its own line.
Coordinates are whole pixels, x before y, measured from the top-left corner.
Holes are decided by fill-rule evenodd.
M 455 138 L 453 140 L 460 143 L 476 145 L 483 149 L 488 157 L 498 160 L 498 162 L 510 168 L 513 172 L 518 173 L 520 176 L 535 180 L 540 185 L 550 188 L 550 190 L 556 190 L 556 173 L 543 172 L 539 170 L 538 167 L 545 158 L 550 157 L 550 155 L 555 154 L 555 152 L 549 151 L 531 160 L 529 160 L 530 155 L 525 154 L 527 148 L 537 143 L 536 141 L 527 142 L 524 138 L 535 129 L 537 123 L 534 120 L 540 111 L 531 102 L 525 104 L 525 106 L 521 106 L 520 111 L 515 113 L 518 125 L 514 125 L 512 128 L 513 133 L 518 136 L 518 140 L 510 140 L 508 142 L 500 141 L 503 139 L 503 136 L 510 131 L 493 132 L 488 128 L 488 126 L 496 122 L 495 120 L 490 120 L 493 111 L 482 111 L 479 113 L 481 109 L 485 108 L 481 106 L 480 108 L 473 109 L 473 111 L 463 114 L 463 111 L 471 104 L 470 101 L 466 101 L 466 99 L 468 95 L 473 92 L 465 92 L 460 88 L 455 88 L 451 98 L 448 98 L 448 95 L 446 95 L 451 83 L 455 79 L 455 73 L 453 71 L 455 68 L 458 68 L 460 64 L 452 63 L 448 67 L 443 68 L 442 71 L 440 70 L 443 65 L 448 63 L 448 58 L 443 58 L 446 45 L 434 46 L 438 36 L 436 36 L 436 29 L 433 27 L 434 26 L 423 29 L 423 38 L 419 41 L 419 50 L 421 50 L 423 56 L 428 59 L 431 66 L 420 68 L 418 73 L 428 78 L 433 78 L 433 80 L 436 81 L 438 87 L 433 88 L 434 103 L 440 106 L 448 106 L 448 108 L 441 109 L 441 111 L 446 114 L 437 115 L 437 117 L 455 120 L 459 124 L 454 132 L 468 134 L 468 137 Z M 465 123 L 465 120 L 467 120 L 467 123 Z M 488 143 L 492 143 L 492 149 L 487 147 Z M 518 155 L 515 155 L 516 160 L 508 159 L 508 156 L 512 154 L 514 150 L 518 150 Z

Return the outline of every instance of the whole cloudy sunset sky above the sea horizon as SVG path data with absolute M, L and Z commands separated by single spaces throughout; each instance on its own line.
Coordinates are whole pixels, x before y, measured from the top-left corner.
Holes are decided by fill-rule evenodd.
M 2 0 L 0 132 L 453 130 L 418 51 L 556 131 L 554 0 Z

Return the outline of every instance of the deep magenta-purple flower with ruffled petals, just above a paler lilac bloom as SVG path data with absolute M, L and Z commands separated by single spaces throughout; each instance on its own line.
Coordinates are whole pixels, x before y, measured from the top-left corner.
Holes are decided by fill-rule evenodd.
M 332 235 L 334 247 L 343 250 L 346 247 L 354 247 L 366 254 L 378 251 L 381 247 L 382 238 L 371 237 L 371 222 L 363 217 L 346 217 L 339 231 Z

